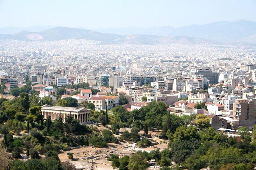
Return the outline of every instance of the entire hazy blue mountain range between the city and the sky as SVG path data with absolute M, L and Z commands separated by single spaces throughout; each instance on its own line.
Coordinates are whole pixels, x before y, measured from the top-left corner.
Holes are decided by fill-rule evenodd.
M 17 32 L 19 30 L 25 31 Z M 87 30 L 81 27 L 67 28 L 54 26 L 22 29 L 5 27 L 0 28 L 0 39 L 26 41 L 86 39 L 102 41 L 104 43 L 130 44 L 212 43 L 256 45 L 256 22 L 247 20 L 221 21 L 180 28 L 165 26 L 151 28 L 105 28 L 95 30 Z

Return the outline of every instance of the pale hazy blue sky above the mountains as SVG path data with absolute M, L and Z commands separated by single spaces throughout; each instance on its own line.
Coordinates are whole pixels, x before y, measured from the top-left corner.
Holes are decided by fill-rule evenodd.
M 0 27 L 124 28 L 256 21 L 256 0 L 0 0 Z

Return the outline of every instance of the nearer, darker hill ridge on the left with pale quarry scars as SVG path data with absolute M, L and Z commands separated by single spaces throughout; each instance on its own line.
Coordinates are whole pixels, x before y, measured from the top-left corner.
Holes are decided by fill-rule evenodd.
M 117 35 L 109 33 L 99 33 L 92 30 L 56 27 L 41 32 L 20 32 L 16 34 L 1 34 L 0 39 L 13 39 L 25 41 L 52 41 L 66 39 L 96 40 L 104 43 L 129 43 L 129 44 L 159 44 L 159 43 L 218 43 L 196 37 L 162 37 L 156 35 Z

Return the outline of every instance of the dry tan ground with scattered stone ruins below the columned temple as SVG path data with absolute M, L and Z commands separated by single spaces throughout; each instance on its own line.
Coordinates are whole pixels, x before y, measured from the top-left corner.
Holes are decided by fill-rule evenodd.
M 97 128 L 100 131 L 107 129 L 104 126 L 100 126 Z M 128 130 L 130 132 L 130 128 L 121 128 L 119 131 L 123 133 L 125 130 Z M 140 134 L 143 134 L 143 131 L 140 131 Z M 149 131 L 149 134 L 151 134 L 152 136 L 157 136 L 161 134 L 161 132 Z M 115 136 L 119 137 L 119 135 L 115 135 Z M 67 153 L 72 152 L 73 158 L 77 159 L 77 161 L 71 161 L 71 162 L 76 165 L 76 168 L 89 170 L 93 166 L 97 170 L 112 170 L 113 168 L 111 166 L 111 161 L 107 161 L 107 157 L 111 154 L 119 154 L 119 156 L 122 157 L 124 155 L 131 155 L 138 150 L 152 151 L 157 147 L 161 151 L 167 148 L 167 144 L 165 143 L 166 141 L 161 140 L 158 137 L 153 137 L 152 140 L 153 140 L 152 142 L 158 142 L 159 144 L 154 145 L 154 147 L 138 148 L 135 146 L 135 144 L 130 144 L 128 142 L 121 142 L 119 144 L 109 143 L 107 148 L 82 147 L 79 149 L 65 151 L 59 154 L 59 158 L 61 161 L 70 161 L 67 156 Z M 86 159 L 90 156 L 95 156 L 96 158 Z M 150 167 L 149 169 L 152 170 L 155 168 Z

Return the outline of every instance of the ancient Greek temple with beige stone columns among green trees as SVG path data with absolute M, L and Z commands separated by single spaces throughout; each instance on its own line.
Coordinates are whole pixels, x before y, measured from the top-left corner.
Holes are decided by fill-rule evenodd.
M 59 116 L 62 116 L 64 122 L 66 122 L 66 117 L 69 115 L 73 116 L 73 119 L 77 119 L 80 123 L 90 123 L 90 109 L 84 107 L 61 107 L 61 106 L 50 106 L 43 105 L 41 108 L 41 114 L 44 116 L 44 119 L 47 119 L 47 116 L 51 117 L 51 120 L 54 121 L 58 119 Z

